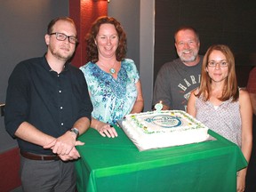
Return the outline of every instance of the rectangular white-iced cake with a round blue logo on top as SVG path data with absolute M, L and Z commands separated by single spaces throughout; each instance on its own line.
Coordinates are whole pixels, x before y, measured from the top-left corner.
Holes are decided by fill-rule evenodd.
M 122 127 L 140 151 L 201 142 L 209 137 L 204 124 L 180 110 L 127 115 Z

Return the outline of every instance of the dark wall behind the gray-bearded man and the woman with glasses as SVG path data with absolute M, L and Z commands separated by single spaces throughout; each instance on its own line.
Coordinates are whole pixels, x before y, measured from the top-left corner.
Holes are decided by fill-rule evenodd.
M 231 48 L 236 55 L 240 86 L 244 86 L 247 79 L 241 76 L 256 65 L 255 19 L 255 0 L 156 0 L 154 77 L 164 62 L 177 57 L 175 29 L 190 25 L 199 32 L 201 54 L 212 44 L 227 44 Z

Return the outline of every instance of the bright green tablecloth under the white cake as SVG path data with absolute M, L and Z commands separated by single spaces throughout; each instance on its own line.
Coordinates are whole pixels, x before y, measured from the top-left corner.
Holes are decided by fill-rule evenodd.
M 235 144 L 212 131 L 217 140 L 142 152 L 116 131 L 115 139 L 94 129 L 79 137 L 79 192 L 235 192 L 236 171 L 247 165 Z

